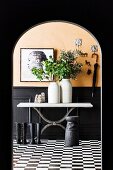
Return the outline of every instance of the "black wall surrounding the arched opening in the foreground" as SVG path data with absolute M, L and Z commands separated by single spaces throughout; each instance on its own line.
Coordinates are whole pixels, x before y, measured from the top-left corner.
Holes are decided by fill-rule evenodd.
M 92 32 L 102 48 L 103 169 L 113 169 L 113 0 L 1 0 L 0 2 L 0 168 L 12 162 L 12 51 L 20 35 L 47 20 L 66 20 Z M 7 164 L 6 164 L 7 162 Z M 9 163 L 8 163 L 9 162 Z

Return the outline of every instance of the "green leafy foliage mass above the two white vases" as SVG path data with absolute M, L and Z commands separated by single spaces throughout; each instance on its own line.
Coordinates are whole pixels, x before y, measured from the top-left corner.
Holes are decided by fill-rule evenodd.
M 44 78 L 51 79 L 54 76 L 57 80 L 63 78 L 76 79 L 81 72 L 82 63 L 78 63 L 75 51 L 64 51 L 60 53 L 58 60 L 54 60 L 51 56 L 42 62 L 43 69 L 32 69 L 34 74 L 40 81 Z

